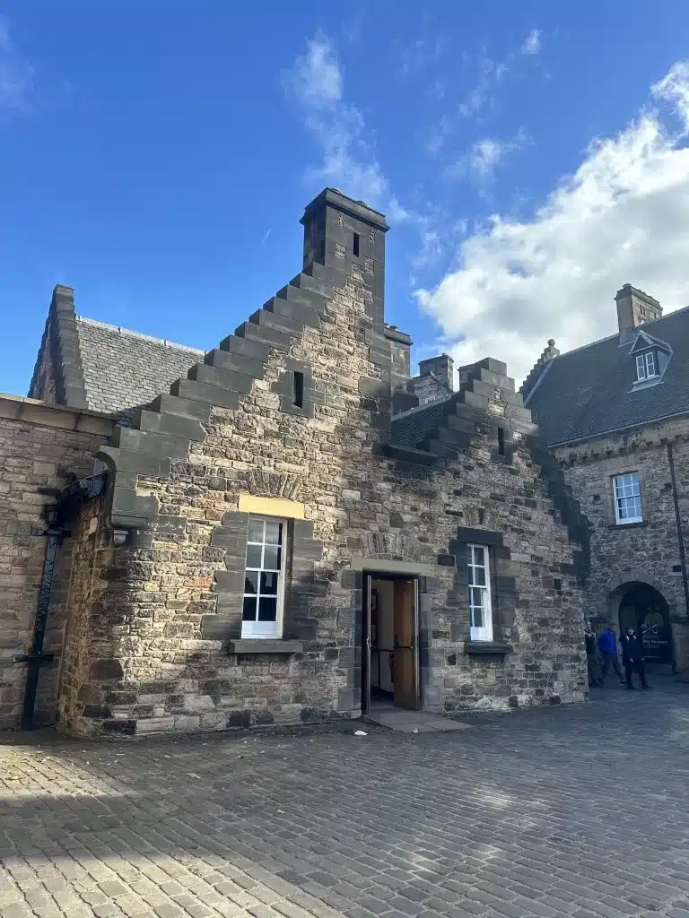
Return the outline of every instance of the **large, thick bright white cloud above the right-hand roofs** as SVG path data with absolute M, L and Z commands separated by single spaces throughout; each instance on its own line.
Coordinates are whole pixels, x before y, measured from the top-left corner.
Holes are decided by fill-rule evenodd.
M 457 269 L 416 292 L 454 342 L 459 364 L 504 360 L 525 377 L 548 338 L 560 350 L 616 331 L 616 291 L 631 283 L 666 311 L 687 305 L 689 64 L 652 94 L 681 127 L 642 111 L 615 137 L 594 140 L 532 218 L 493 215 L 458 248 Z

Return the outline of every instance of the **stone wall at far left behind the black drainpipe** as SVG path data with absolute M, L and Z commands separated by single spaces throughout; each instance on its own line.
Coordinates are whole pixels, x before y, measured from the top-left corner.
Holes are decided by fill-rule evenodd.
M 19 722 L 46 552 L 43 509 L 54 503 L 68 472 L 93 473 L 93 453 L 107 442 L 112 422 L 92 412 L 33 399 L 0 396 L 0 727 Z M 69 548 L 55 565 L 45 650 L 55 655 L 40 672 L 37 721 L 55 716 L 57 679 L 69 577 Z

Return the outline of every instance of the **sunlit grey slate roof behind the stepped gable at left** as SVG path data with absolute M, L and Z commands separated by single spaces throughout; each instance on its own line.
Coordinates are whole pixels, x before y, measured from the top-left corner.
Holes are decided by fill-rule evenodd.
M 190 366 L 203 361 L 204 352 L 136 331 L 76 317 L 88 408 L 126 419 L 133 409 L 148 404 Z

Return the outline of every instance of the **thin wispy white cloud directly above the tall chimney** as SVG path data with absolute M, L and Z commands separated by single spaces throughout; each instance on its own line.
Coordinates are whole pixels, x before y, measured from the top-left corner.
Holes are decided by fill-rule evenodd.
M 309 167 L 308 180 L 381 207 L 389 183 L 367 143 L 361 112 L 344 102 L 343 69 L 331 39 L 323 32 L 309 39 L 283 83 L 321 147 L 322 162 Z

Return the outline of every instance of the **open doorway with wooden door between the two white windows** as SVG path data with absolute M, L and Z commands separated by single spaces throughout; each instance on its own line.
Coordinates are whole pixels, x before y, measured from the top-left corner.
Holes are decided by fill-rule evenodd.
M 418 581 L 365 575 L 362 709 L 419 708 Z

